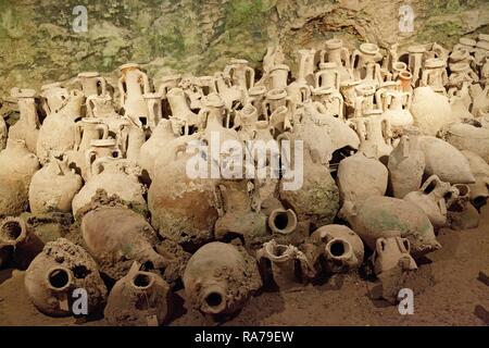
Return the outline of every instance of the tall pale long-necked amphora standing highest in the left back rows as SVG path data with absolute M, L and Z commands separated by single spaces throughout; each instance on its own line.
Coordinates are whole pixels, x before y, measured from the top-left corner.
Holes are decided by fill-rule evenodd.
M 150 92 L 148 75 L 134 63 L 121 65 L 120 71 L 122 76 L 118 79 L 118 91 L 124 115 L 139 123 L 140 119 L 148 117 L 148 105 L 142 97 L 143 94 Z

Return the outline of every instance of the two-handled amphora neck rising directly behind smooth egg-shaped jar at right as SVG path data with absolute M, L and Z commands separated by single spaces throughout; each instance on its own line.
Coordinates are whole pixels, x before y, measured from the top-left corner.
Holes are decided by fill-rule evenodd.
M 360 138 L 360 151 L 380 159 L 392 151 L 390 120 L 380 110 L 367 112 L 363 117 L 350 120 Z

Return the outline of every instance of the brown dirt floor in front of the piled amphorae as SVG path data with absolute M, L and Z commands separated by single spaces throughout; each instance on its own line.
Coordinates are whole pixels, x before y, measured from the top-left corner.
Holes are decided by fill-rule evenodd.
M 478 279 L 479 272 L 489 268 L 489 207 L 482 208 L 478 228 L 441 229 L 438 240 L 443 248 L 419 262 L 410 279 L 415 294 L 412 315 L 371 299 L 374 284 L 352 274 L 337 275 L 323 285 L 260 294 L 225 325 L 489 325 L 489 286 Z M 213 325 L 179 302 L 171 325 Z M 24 272 L 2 270 L 0 325 L 78 324 L 73 318 L 39 313 L 25 294 Z M 85 325 L 104 325 L 104 321 Z

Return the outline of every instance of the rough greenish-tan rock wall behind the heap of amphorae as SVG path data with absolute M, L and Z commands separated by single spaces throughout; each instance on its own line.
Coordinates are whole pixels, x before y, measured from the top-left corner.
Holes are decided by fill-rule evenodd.
M 75 33 L 76 5 L 88 30 Z M 399 8 L 410 4 L 415 32 L 401 35 Z M 0 0 L 0 96 L 13 86 L 39 88 L 80 71 L 115 73 L 139 62 L 150 76 L 168 71 L 212 74 L 229 58 L 259 66 L 279 41 L 294 63 L 298 47 L 339 37 L 380 46 L 489 33 L 488 0 Z

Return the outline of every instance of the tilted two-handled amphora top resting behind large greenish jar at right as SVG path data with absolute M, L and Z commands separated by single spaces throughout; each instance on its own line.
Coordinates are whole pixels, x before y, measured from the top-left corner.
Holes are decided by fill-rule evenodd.
M 447 202 L 444 196 L 450 192 L 450 189 L 449 183 L 443 183 L 438 176 L 431 175 L 419 190 L 409 192 L 403 199 L 423 209 L 434 227 L 439 228 L 447 225 Z

